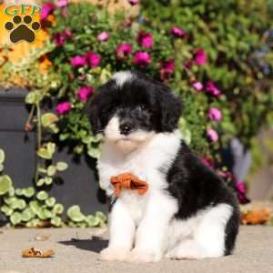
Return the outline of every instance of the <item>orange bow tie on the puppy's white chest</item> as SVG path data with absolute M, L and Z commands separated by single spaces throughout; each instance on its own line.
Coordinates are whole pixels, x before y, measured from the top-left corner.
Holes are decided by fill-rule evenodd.
M 139 195 L 144 195 L 147 192 L 147 182 L 140 180 L 138 177 L 124 173 L 116 177 L 111 177 L 111 184 L 115 187 L 115 195 L 118 197 L 123 188 L 137 189 Z

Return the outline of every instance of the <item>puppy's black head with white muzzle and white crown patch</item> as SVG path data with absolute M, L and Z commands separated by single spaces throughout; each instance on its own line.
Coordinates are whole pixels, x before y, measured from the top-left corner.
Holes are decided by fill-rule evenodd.
M 116 73 L 87 104 L 94 133 L 131 151 L 157 133 L 177 128 L 181 103 L 163 84 L 136 72 Z

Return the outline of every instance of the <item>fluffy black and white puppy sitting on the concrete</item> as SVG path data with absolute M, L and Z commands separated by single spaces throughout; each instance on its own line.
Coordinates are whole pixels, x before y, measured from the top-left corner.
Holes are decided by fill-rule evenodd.
M 238 234 L 236 197 L 190 151 L 177 129 L 181 103 L 163 84 L 136 72 L 118 72 L 87 106 L 103 136 L 100 186 L 130 172 L 148 183 L 145 195 L 122 190 L 109 217 L 106 260 L 156 262 L 231 253 Z

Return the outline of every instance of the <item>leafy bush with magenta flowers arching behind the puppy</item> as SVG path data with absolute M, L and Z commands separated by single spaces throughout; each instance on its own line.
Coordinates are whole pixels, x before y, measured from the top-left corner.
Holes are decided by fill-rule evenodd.
M 185 141 L 207 166 L 232 181 L 221 162 L 221 148 L 233 136 L 248 145 L 272 109 L 272 68 L 268 56 L 260 64 L 255 55 L 266 45 L 260 33 L 269 25 L 262 16 L 247 22 L 244 1 L 230 2 L 236 18 L 227 14 L 229 2 L 206 5 L 207 0 L 202 0 L 190 7 L 187 1 L 170 2 L 166 6 L 161 1 L 141 1 L 140 22 L 86 3 L 45 3 L 42 25 L 54 47 L 46 57 L 58 77 L 47 96 L 56 104 L 56 122 L 48 128 L 76 154 L 99 157 L 100 139 L 91 133 L 84 113 L 86 101 L 116 71 L 141 70 L 181 97 L 184 115 L 179 129 Z M 269 74 L 263 70 L 265 64 Z M 239 197 L 246 200 L 239 183 Z

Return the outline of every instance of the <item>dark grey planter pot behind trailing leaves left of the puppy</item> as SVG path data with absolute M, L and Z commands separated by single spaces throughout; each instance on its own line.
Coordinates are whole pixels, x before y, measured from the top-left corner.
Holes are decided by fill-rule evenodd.
M 35 132 L 25 132 L 28 109 L 23 88 L 0 87 L 0 147 L 5 150 L 5 174 L 15 187 L 30 187 L 35 175 Z M 75 160 L 68 148 L 56 152 L 54 160 L 66 161 L 69 168 L 59 173 L 59 183 L 50 189 L 50 195 L 66 208 L 79 205 L 86 214 L 106 211 L 104 193 L 99 190 L 96 162 L 91 158 Z M 4 216 L 0 213 L 0 221 Z

